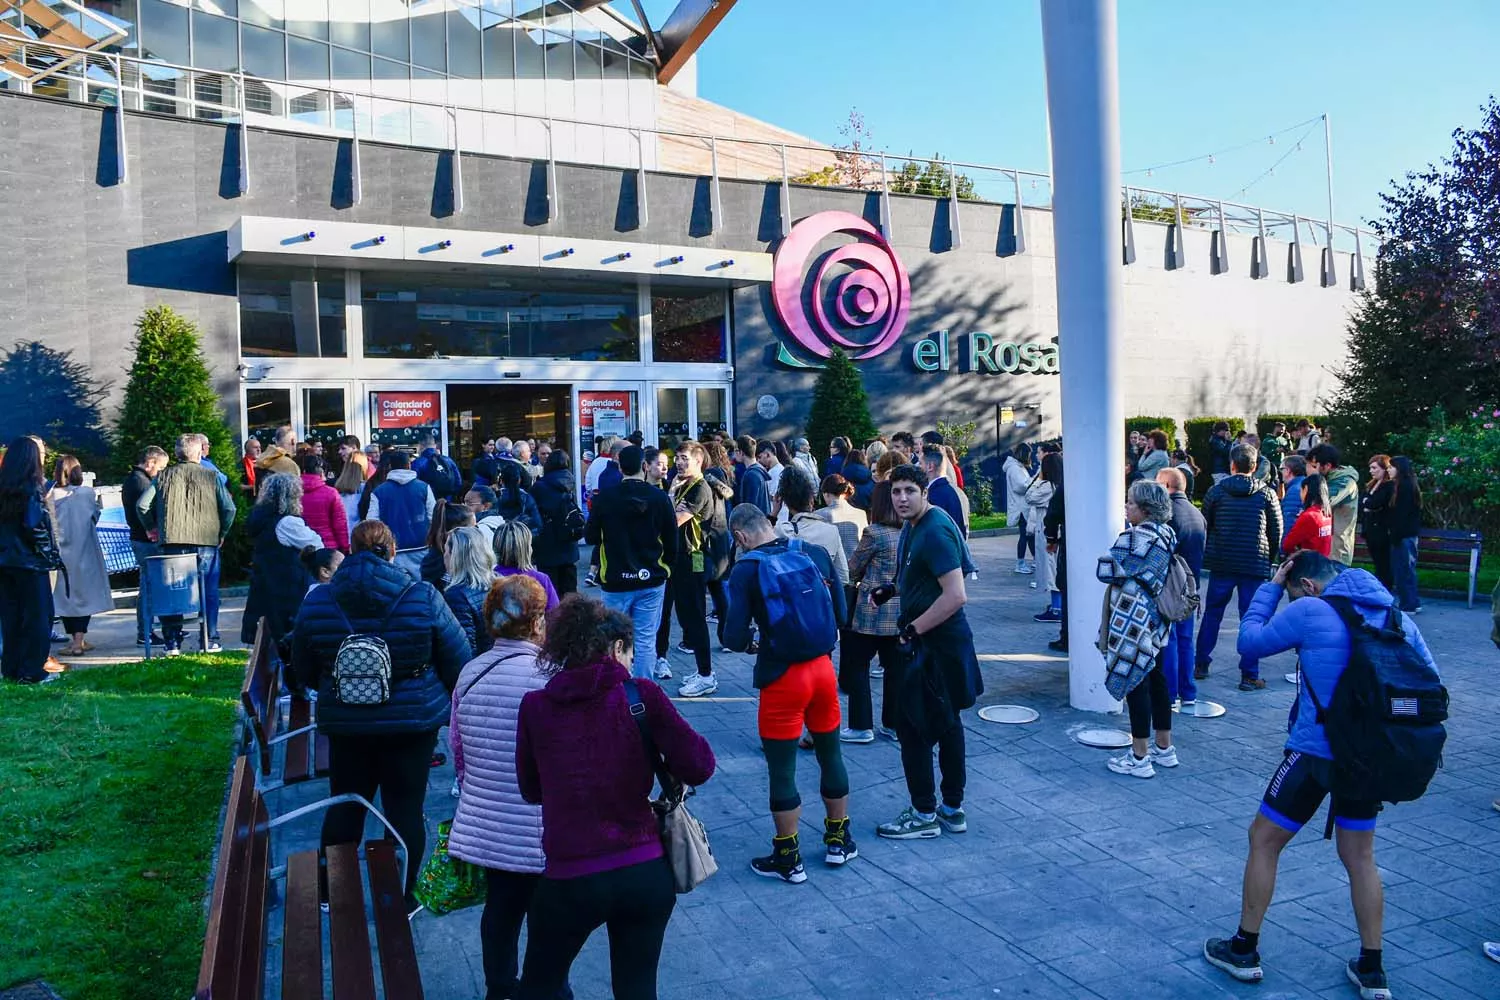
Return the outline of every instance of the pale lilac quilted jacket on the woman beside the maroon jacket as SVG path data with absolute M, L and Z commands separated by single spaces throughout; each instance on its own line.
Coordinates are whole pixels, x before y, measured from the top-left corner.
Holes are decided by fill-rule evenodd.
M 459 780 L 459 808 L 448 853 L 482 868 L 542 874 L 542 807 L 520 798 L 516 784 L 516 724 L 520 699 L 542 688 L 540 649 L 500 639 L 471 660 L 453 691 L 448 747 Z

